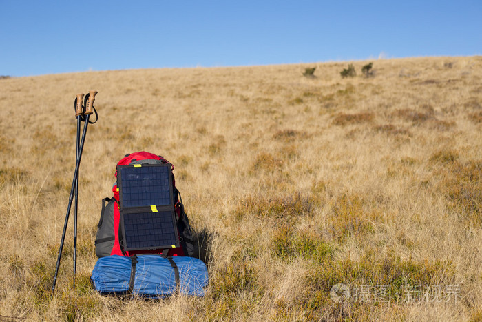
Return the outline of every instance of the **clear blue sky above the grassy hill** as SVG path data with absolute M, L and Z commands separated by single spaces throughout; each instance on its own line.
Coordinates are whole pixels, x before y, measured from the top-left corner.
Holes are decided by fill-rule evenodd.
M 0 0 L 0 75 L 482 54 L 482 0 Z

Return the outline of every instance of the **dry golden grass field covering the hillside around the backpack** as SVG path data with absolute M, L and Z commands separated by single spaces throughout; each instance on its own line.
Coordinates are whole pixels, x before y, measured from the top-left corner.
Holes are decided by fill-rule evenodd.
M 346 79 L 348 62 L 0 79 L 0 320 L 481 321 L 482 57 L 375 60 L 362 77 L 368 62 Z M 51 299 L 73 102 L 91 89 L 77 284 L 72 212 Z M 204 298 L 90 285 L 101 199 L 140 150 L 176 166 Z

